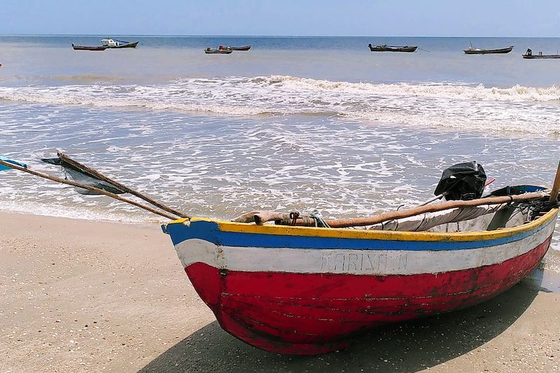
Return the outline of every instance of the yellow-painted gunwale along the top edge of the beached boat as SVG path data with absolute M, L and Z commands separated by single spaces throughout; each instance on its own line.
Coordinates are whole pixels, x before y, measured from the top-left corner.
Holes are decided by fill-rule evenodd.
M 234 223 L 212 218 L 191 218 L 174 220 L 168 225 L 196 222 L 216 223 L 221 232 L 237 232 L 248 234 L 269 234 L 280 236 L 325 237 L 333 239 L 369 239 L 386 241 L 486 241 L 512 237 L 539 227 L 544 227 L 557 215 L 558 207 L 545 213 L 545 215 L 531 222 L 517 227 L 503 228 L 493 231 L 472 232 L 402 232 L 386 230 L 349 230 L 347 228 L 302 227 L 291 225 L 255 225 L 247 223 Z

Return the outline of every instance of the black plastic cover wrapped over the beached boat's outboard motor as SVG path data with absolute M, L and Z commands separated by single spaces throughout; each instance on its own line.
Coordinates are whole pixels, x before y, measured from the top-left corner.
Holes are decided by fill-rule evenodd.
M 454 164 L 444 169 L 434 195 L 447 192 L 445 199 L 477 199 L 482 197 L 486 173 L 477 161 Z

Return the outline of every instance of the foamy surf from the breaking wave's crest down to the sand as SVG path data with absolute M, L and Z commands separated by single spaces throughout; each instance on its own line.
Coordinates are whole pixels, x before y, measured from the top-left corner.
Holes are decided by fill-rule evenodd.
M 484 164 L 496 188 L 549 185 L 558 141 L 531 133 L 560 133 L 558 95 L 556 87 L 292 76 L 0 87 L 9 101 L 0 105 L 0 148 L 43 172 L 57 170 L 36 160 L 62 148 L 193 216 L 229 219 L 254 209 L 370 216 L 428 199 L 440 170 L 465 160 Z M 158 220 L 10 172 L 0 187 L 0 211 Z

